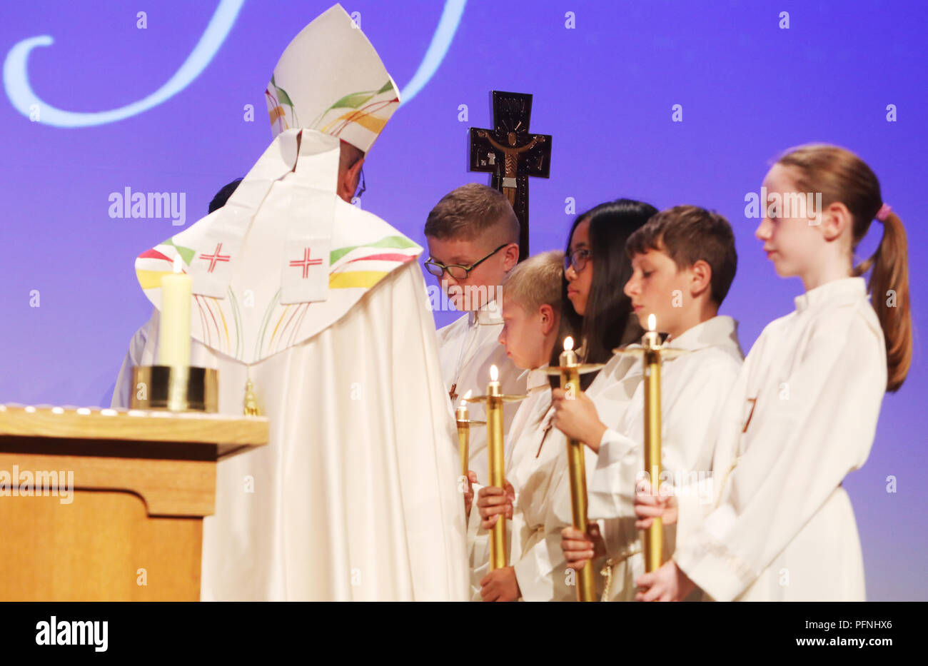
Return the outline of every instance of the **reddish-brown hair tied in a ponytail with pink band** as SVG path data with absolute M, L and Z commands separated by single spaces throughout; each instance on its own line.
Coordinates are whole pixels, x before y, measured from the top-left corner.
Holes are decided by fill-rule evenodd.
M 880 182 L 870 167 L 851 151 L 825 144 L 793 148 L 778 162 L 794 168 L 799 191 L 821 192 L 823 206 L 844 204 L 854 220 L 851 247 L 856 250 L 883 208 Z M 864 275 L 870 268 L 870 302 L 886 340 L 886 391 L 898 391 L 912 363 L 912 316 L 906 230 L 893 211 L 883 219 L 883 238 L 876 252 L 854 268 L 853 275 Z

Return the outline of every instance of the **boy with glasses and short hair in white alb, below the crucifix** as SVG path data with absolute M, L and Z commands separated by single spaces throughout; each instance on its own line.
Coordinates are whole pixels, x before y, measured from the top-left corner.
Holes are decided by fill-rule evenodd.
M 507 394 L 525 392 L 525 378 L 499 345 L 503 329 L 497 298 L 503 278 L 519 261 L 519 220 L 496 189 L 470 183 L 445 195 L 425 223 L 429 245 L 426 270 L 435 275 L 458 311 L 465 312 L 438 330 L 442 378 L 451 402 L 467 393 L 483 395 L 496 365 Z M 503 421 L 504 432 L 515 410 Z M 483 405 L 470 403 L 470 417 L 483 420 Z M 486 481 L 486 429 L 470 430 L 470 469 Z

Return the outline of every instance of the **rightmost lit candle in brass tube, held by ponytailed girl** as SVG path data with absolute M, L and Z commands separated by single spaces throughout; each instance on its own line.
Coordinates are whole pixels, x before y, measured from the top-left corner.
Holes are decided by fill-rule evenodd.
M 648 331 L 641 339 L 644 347 L 644 467 L 651 482 L 651 493 L 660 491 L 661 481 L 661 344 L 657 322 L 648 315 Z M 664 529 L 655 518 L 644 532 L 644 566 L 658 570 L 664 559 Z

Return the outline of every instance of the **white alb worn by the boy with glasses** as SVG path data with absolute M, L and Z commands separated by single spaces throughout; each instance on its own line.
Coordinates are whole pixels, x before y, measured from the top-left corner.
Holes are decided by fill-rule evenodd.
M 467 391 L 471 395 L 485 395 L 490 382 L 490 366 L 499 371 L 499 384 L 503 393 L 522 395 L 525 393 L 524 371 L 516 367 L 506 355 L 506 347 L 499 343 L 503 330 L 503 318 L 496 301 L 487 302 L 483 308 L 463 314 L 446 327 L 438 329 L 438 356 L 442 364 L 445 391 L 454 392 L 457 405 Z M 470 418 L 486 420 L 483 403 L 468 403 Z M 503 412 L 503 437 L 509 433 L 509 425 L 516 409 L 507 403 Z M 470 429 L 470 469 L 477 473 L 480 485 L 487 482 L 486 428 L 474 426 Z

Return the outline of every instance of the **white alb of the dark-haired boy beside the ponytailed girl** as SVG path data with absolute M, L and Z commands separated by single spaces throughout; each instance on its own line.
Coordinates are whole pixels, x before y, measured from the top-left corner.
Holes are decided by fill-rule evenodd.
M 709 473 L 715 417 L 743 359 L 737 328 L 731 317 L 715 316 L 664 342 L 667 349 L 684 350 L 677 356 L 668 354 L 661 364 L 661 468 L 671 483 L 704 479 Z M 604 519 L 603 537 L 612 569 L 607 598 L 612 601 L 634 600 L 635 579 L 644 573 L 634 506 L 636 481 L 644 470 L 642 371 L 642 360 L 637 357 L 623 383 L 603 389 L 605 395 L 619 391 L 624 397 L 626 386 L 634 385 L 635 393 L 617 424 L 604 421 L 611 428 L 599 442 L 599 465 L 588 483 L 589 517 Z M 693 490 L 700 487 L 691 485 Z M 710 502 L 711 494 L 704 501 Z M 674 549 L 674 533 L 667 532 L 664 557 Z

